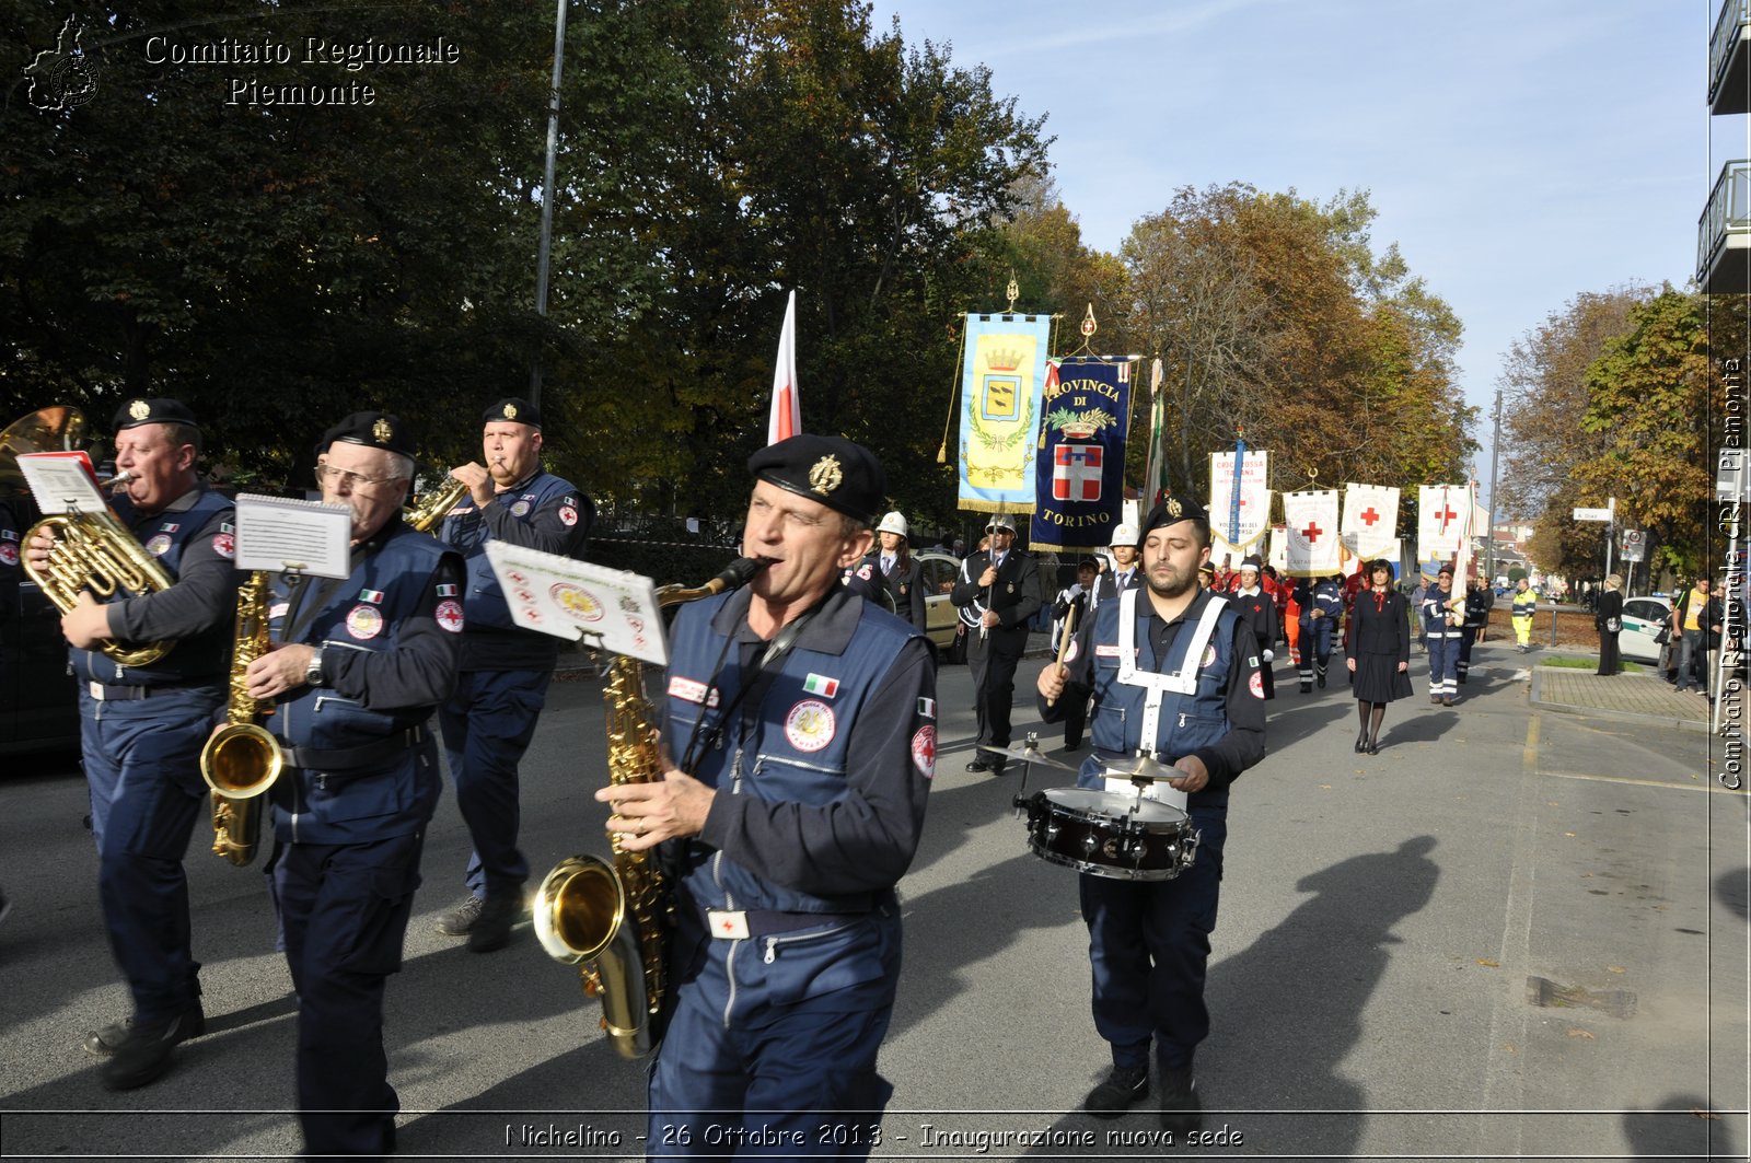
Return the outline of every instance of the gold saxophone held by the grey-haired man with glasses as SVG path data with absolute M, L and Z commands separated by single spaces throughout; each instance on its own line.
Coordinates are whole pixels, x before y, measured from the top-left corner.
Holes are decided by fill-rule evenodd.
M 201 779 L 212 792 L 214 855 L 236 867 L 256 858 L 263 793 L 280 778 L 285 751 L 256 723 L 263 708 L 249 694 L 249 664 L 268 653 L 268 571 L 249 574 L 236 592 L 236 646 L 226 725 L 201 748 Z

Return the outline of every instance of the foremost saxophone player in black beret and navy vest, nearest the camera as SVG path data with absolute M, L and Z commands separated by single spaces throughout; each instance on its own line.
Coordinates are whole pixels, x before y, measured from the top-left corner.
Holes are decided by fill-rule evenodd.
M 678 872 L 646 1149 L 861 1158 L 893 1093 L 876 1054 L 900 974 L 895 883 L 935 771 L 935 669 L 911 624 L 839 585 L 884 508 L 876 457 L 793 436 L 748 468 L 742 552 L 769 564 L 679 608 L 676 764 L 597 793 L 625 849 L 669 841 Z

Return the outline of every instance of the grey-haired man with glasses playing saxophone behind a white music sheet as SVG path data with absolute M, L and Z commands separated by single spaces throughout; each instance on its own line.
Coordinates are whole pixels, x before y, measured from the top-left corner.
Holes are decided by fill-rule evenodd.
M 383 986 L 443 792 L 425 727 L 455 681 L 462 559 L 401 520 L 413 473 L 403 424 L 355 412 L 317 445 L 322 501 L 352 510 L 352 574 L 280 578 L 275 648 L 249 664 L 285 751 L 270 862 L 298 990 L 305 1152 L 389 1154 L 399 1109 L 383 1056 Z

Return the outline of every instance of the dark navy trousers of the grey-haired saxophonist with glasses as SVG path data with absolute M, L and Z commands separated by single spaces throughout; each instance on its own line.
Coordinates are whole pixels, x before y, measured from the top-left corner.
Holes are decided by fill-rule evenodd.
M 371 844 L 282 844 L 273 865 L 298 988 L 298 1121 L 306 1154 L 394 1151 L 401 1102 L 383 1054 L 383 984 L 420 885 L 413 832 Z

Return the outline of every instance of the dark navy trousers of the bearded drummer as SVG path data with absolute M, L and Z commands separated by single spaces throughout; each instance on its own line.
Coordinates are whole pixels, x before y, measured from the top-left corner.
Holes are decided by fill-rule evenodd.
M 1222 890 L 1227 807 L 1192 807 L 1198 858 L 1171 881 L 1082 874 L 1082 921 L 1094 970 L 1094 1030 L 1115 1067 L 1189 1067 L 1210 1033 L 1205 967 Z

